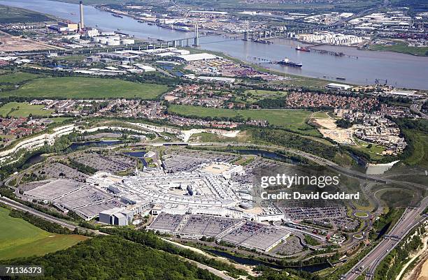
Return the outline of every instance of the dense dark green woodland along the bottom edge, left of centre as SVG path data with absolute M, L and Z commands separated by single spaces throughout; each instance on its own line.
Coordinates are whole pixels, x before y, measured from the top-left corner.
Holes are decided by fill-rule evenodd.
M 2 263 L 2 262 L 0 262 Z M 94 237 L 43 257 L 8 260 L 8 265 L 42 265 L 43 280 L 218 280 L 178 256 L 118 236 Z M 12 279 L 34 279 L 13 277 Z

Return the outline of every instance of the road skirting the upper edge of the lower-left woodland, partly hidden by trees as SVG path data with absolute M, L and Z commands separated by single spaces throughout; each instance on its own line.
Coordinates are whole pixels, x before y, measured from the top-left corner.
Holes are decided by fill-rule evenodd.
M 28 207 L 26 205 L 21 204 L 20 202 L 16 202 L 15 200 L 11 200 L 9 198 L 5 198 L 4 196 L 0 197 L 0 202 L 8 205 L 9 207 L 12 207 L 14 209 L 18 209 L 24 212 L 29 212 L 31 214 L 33 214 L 34 216 L 38 216 L 42 219 L 45 219 L 46 221 L 50 221 L 51 223 L 57 223 L 60 226 L 64 226 L 66 228 L 69 228 L 70 230 L 74 230 L 74 228 L 76 228 L 75 225 L 73 225 L 72 223 L 67 223 L 65 221 L 62 221 L 61 219 L 57 219 L 54 216 L 50 216 L 48 214 L 45 214 L 43 212 L 39 212 L 36 209 L 33 209 L 31 207 Z M 94 233 L 96 235 L 107 235 L 106 233 L 101 233 L 99 230 L 90 230 L 87 228 L 79 228 L 79 230 L 87 230 L 90 233 Z M 198 263 L 194 260 L 190 260 L 187 258 L 184 258 L 185 260 L 187 260 L 190 263 L 194 263 L 194 265 L 197 265 L 197 267 L 201 268 L 202 270 L 208 270 L 209 272 L 211 272 L 212 274 L 216 275 L 217 277 L 220 277 L 221 279 L 224 280 L 236 280 L 233 277 L 229 277 L 227 274 L 225 274 L 224 272 L 220 271 L 220 270 L 216 270 L 213 267 L 209 267 L 208 265 L 204 265 L 202 263 Z

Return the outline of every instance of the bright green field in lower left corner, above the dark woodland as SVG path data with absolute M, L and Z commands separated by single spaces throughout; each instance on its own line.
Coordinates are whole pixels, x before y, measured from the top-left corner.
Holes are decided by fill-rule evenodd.
M 9 210 L 1 207 L 0 221 L 0 260 L 43 256 L 87 239 L 81 235 L 48 233 L 27 221 L 10 217 Z

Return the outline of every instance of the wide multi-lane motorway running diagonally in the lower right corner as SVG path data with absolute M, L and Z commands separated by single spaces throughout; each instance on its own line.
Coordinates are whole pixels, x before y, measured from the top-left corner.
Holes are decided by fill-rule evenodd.
M 357 265 L 341 277 L 341 280 L 355 280 L 360 274 L 366 275 L 366 280 L 373 279 L 373 274 L 380 262 L 385 258 L 392 249 L 420 222 L 427 219 L 421 216 L 422 212 L 428 205 L 428 197 L 422 200 L 420 206 L 415 209 L 407 208 L 390 232 L 385 235 L 384 239 L 371 250 Z M 364 267 L 363 267 L 364 266 Z M 363 267 L 363 268 L 362 268 Z

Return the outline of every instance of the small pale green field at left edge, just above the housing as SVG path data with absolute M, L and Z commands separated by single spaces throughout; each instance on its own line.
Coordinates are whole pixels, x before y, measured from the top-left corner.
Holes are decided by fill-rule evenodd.
M 53 111 L 42 110 L 43 105 L 29 105 L 27 102 L 9 102 L 0 107 L 1 117 L 28 117 L 33 116 L 47 117 Z

